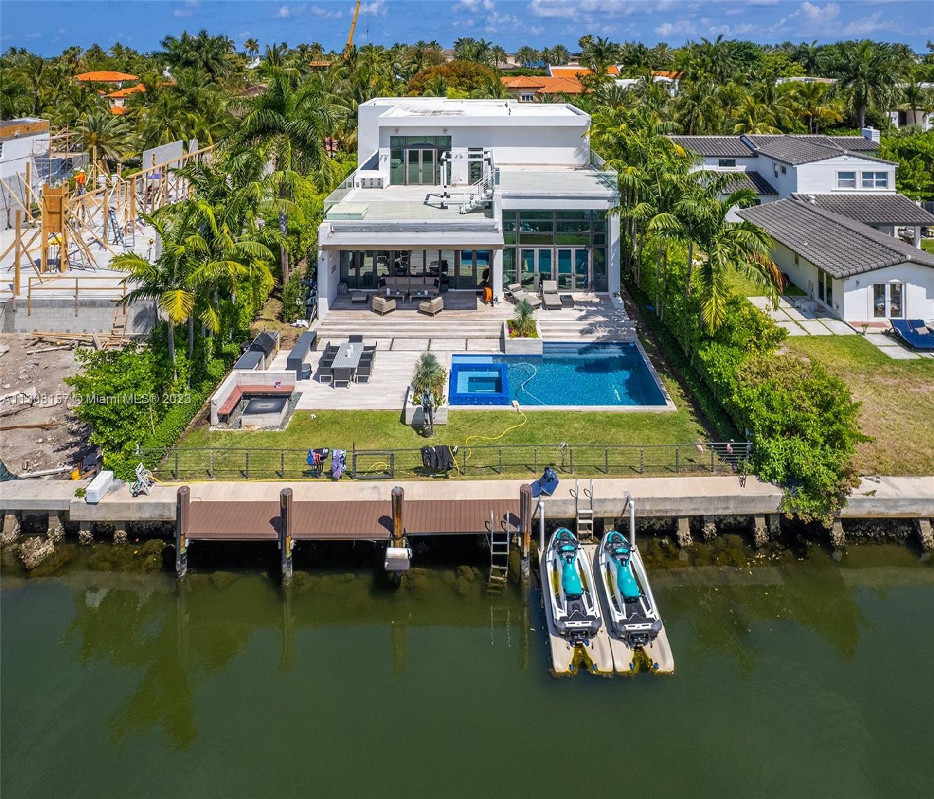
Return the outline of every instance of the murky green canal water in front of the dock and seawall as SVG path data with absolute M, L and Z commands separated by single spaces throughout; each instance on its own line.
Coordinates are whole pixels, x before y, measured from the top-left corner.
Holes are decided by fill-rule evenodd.
M 463 574 L 284 596 L 272 570 L 7 572 L 0 793 L 930 795 L 934 567 L 910 548 L 656 568 L 673 677 L 556 680 L 538 596 Z

